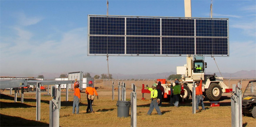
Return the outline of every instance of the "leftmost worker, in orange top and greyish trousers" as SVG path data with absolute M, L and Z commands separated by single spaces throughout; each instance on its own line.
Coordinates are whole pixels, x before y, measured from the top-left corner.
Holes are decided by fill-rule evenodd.
M 74 83 L 74 100 L 73 100 L 73 114 L 75 114 L 75 108 L 76 108 L 76 114 L 79 114 L 79 107 L 81 103 L 81 95 L 80 95 L 80 89 L 79 89 L 79 82 Z

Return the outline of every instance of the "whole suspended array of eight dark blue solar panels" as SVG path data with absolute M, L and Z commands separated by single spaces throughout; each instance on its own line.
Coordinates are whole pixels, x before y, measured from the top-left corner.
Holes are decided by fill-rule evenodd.
M 229 56 L 228 19 L 88 15 L 87 55 Z

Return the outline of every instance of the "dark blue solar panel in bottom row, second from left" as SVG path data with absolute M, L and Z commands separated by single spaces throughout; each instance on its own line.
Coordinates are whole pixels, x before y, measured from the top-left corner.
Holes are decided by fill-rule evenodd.
M 160 37 L 127 37 L 127 54 L 160 54 Z

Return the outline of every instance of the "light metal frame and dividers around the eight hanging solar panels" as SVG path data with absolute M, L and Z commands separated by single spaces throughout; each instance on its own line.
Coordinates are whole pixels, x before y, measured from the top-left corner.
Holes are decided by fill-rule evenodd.
M 125 18 L 125 35 L 91 35 L 90 34 L 90 17 L 119 17 Z M 127 35 L 127 18 L 156 18 L 160 19 L 160 35 Z M 194 20 L 194 36 L 163 36 L 162 35 L 162 19 L 193 19 Z M 196 20 L 203 19 L 203 20 L 225 20 L 227 22 L 227 36 L 196 36 Z M 115 15 L 88 15 L 88 22 L 87 22 L 87 56 L 146 56 L 146 57 L 187 57 L 187 56 L 206 56 L 206 57 L 229 57 L 229 19 L 227 18 L 187 18 L 187 17 L 162 17 L 162 16 L 115 16 Z M 124 36 L 124 54 L 90 54 L 90 36 Z M 127 54 L 127 45 L 126 45 L 126 38 L 127 37 L 160 37 L 160 54 Z M 163 37 L 182 37 L 182 38 L 194 38 L 194 52 L 195 54 L 162 54 L 162 38 Z M 227 38 L 227 54 L 196 54 L 196 38 Z

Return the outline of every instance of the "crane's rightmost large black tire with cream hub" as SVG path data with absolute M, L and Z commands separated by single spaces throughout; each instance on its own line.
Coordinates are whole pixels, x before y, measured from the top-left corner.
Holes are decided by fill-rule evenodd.
M 209 88 L 206 90 L 207 98 L 210 101 L 217 101 L 221 98 L 222 90 L 219 84 L 212 83 Z

